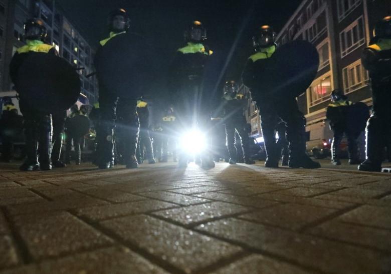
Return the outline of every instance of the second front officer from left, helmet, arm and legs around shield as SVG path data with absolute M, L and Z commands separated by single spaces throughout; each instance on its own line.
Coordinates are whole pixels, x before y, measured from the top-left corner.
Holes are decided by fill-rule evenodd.
M 100 48 L 95 57 L 97 60 L 104 59 L 100 57 L 102 49 L 107 42 L 116 36 L 125 35 L 130 27 L 130 19 L 124 9 L 113 11 L 109 16 L 109 37 L 99 42 Z M 104 86 L 103 81 L 100 81 L 99 74 L 99 114 L 100 123 L 97 128 L 98 141 L 98 167 L 101 169 L 112 168 L 114 165 L 114 128 L 116 114 L 121 117 L 121 123 L 117 124 L 123 135 L 124 155 L 123 162 L 127 168 L 137 168 L 138 162 L 136 159 L 136 146 L 139 130 L 139 120 L 136 112 L 136 98 L 120 98 L 114 95 L 110 87 Z M 120 106 L 117 109 L 117 102 L 120 101 Z

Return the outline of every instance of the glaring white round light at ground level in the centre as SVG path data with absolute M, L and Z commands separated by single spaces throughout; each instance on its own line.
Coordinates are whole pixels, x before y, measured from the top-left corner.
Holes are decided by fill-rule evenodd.
M 179 145 L 187 154 L 199 154 L 206 148 L 205 135 L 199 129 L 189 130 L 180 136 Z

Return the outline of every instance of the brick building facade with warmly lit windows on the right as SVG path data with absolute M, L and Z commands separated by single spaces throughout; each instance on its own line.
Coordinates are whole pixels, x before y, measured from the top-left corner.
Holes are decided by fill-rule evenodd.
M 375 23 L 390 9 L 389 0 L 303 0 L 278 34 L 278 45 L 302 39 L 319 52 L 316 78 L 297 98 L 307 119 L 310 142 L 325 138 L 326 107 L 332 90 L 343 90 L 353 102 L 372 104 L 361 53 L 373 37 Z

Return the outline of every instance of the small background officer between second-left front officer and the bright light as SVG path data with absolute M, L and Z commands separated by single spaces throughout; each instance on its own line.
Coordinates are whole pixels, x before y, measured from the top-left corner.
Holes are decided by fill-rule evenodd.
M 141 97 L 137 100 L 137 115 L 140 121 L 140 132 L 138 134 L 137 151 L 139 159 L 143 161 L 143 151 L 145 148 L 146 158 L 149 164 L 154 164 L 152 141 L 149 136 L 149 110 L 148 103 Z M 137 160 L 138 161 L 138 160 Z M 140 161 L 139 161 L 140 162 Z

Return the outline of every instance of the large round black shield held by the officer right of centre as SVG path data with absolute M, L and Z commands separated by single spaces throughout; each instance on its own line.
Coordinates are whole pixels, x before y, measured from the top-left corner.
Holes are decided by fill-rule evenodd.
M 319 54 L 309 42 L 295 40 L 280 48 L 270 58 L 259 78 L 260 92 L 268 96 L 297 97 L 316 77 Z

